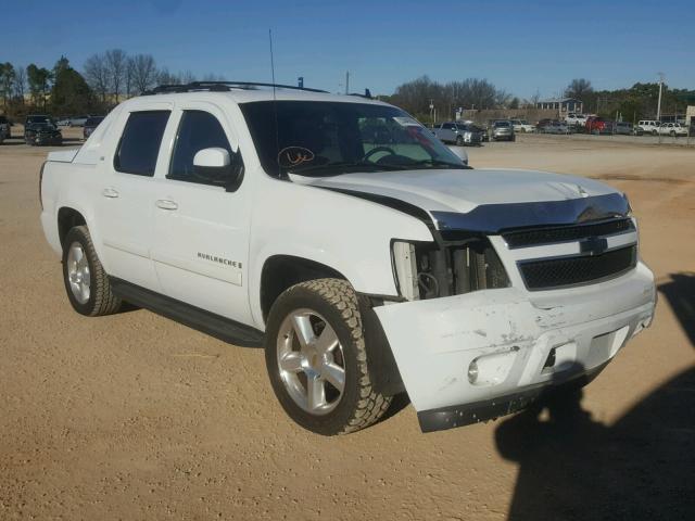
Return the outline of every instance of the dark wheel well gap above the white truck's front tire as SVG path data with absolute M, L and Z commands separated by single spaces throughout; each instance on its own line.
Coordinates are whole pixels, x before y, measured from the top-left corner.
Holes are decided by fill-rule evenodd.
M 338 270 L 307 258 L 292 255 L 269 257 L 261 274 L 261 309 L 267 320 L 270 307 L 282 292 L 307 280 L 334 278 L 345 279 Z

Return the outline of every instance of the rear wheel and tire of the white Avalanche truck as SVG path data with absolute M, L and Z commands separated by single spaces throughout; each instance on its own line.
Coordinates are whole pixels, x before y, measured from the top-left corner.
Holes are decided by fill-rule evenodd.
M 86 226 L 72 228 L 63 241 L 63 282 L 70 303 L 80 315 L 99 317 L 121 308 L 122 301 L 111 290 Z

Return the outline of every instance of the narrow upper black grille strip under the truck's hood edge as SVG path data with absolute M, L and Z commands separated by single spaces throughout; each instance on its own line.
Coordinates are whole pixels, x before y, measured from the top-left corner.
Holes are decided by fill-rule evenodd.
M 554 228 L 536 228 L 503 233 L 509 247 L 528 247 L 555 242 L 570 242 L 589 237 L 611 236 L 634 230 L 632 219 L 615 219 L 590 225 L 573 225 Z

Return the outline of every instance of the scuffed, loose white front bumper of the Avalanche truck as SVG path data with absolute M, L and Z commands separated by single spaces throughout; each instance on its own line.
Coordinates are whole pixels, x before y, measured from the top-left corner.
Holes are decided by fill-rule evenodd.
M 547 389 L 586 382 L 654 316 L 642 263 L 597 284 L 518 288 L 375 308 L 422 431 L 515 412 Z

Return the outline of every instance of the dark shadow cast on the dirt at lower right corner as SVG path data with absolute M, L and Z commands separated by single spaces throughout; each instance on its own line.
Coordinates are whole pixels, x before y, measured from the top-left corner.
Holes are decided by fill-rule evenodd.
M 695 346 L 695 275 L 659 285 Z M 497 449 L 518 462 L 510 520 L 694 520 L 695 367 L 615 424 L 595 421 L 581 390 L 503 421 Z

